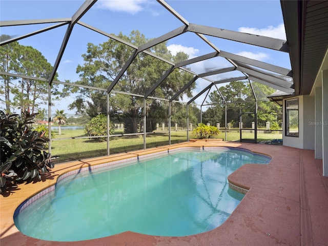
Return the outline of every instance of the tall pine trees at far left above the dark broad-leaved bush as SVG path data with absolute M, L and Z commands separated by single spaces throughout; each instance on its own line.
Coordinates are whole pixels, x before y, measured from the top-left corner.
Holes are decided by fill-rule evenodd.
M 9 35 L 1 35 L 0 40 L 10 39 Z M 31 46 L 20 45 L 12 42 L 0 47 L 1 71 L 16 73 L 29 77 L 49 79 L 52 66 L 42 53 Z M 57 74 L 55 79 L 57 79 Z M 30 78 L 17 78 L 14 76 L 1 76 L 0 101 L 5 106 L 4 111 L 14 112 L 29 110 L 31 114 L 39 112 L 45 114 L 42 105 L 48 104 L 47 82 Z M 52 95 L 64 96 L 58 91 L 58 85 L 53 85 Z

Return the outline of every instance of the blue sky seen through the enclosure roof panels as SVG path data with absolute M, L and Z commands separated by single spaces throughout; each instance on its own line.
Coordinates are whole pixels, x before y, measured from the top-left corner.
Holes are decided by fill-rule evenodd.
M 1 20 L 22 20 L 71 17 L 83 2 L 78 0 L 1 0 L 0 18 Z M 189 23 L 285 39 L 280 1 L 278 0 L 173 0 L 167 1 L 167 3 Z M 80 20 L 113 34 L 122 32 L 125 35 L 129 35 L 132 30 L 139 30 L 140 33 L 145 34 L 148 38 L 158 37 L 183 25 L 154 0 L 98 1 Z M 19 36 L 52 25 L 2 27 L 0 32 L 1 34 Z M 53 65 L 66 28 L 67 26 L 64 26 L 46 33 L 37 34 L 19 40 L 19 43 L 38 49 Z M 210 36 L 207 36 L 207 38 L 220 50 L 244 55 L 280 67 L 290 68 L 289 55 L 286 53 Z M 78 80 L 78 75 L 75 72 L 76 66 L 83 64 L 81 54 L 86 53 L 87 43 L 100 44 L 107 39 L 104 35 L 75 25 L 67 49 L 58 67 L 59 80 Z M 190 58 L 214 51 L 196 34 L 190 32 L 169 40 L 168 48 L 172 53 L 180 50 L 184 51 L 189 54 Z M 191 68 L 197 73 L 202 73 L 218 66 L 227 66 L 227 61 L 222 57 L 217 57 L 216 59 L 194 64 Z M 229 74 L 220 76 L 224 78 L 224 76 L 229 76 Z M 202 89 L 203 87 L 198 87 L 194 94 Z

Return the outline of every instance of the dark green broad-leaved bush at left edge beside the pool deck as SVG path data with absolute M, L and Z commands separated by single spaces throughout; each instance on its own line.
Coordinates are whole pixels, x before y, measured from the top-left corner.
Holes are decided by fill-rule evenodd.
M 37 132 L 29 126 L 35 115 L 22 112 L 19 117 L 0 110 L 1 193 L 8 183 L 40 180 L 42 174 L 49 173 L 54 167 L 51 154 L 44 150 L 49 138 L 44 136 L 45 132 Z

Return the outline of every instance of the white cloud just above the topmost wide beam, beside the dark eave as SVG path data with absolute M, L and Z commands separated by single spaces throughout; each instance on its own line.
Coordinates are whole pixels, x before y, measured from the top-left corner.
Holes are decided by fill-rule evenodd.
M 254 27 L 240 27 L 238 28 L 238 31 L 286 40 L 286 32 L 283 24 L 280 24 L 277 27 L 269 26 L 261 29 Z

